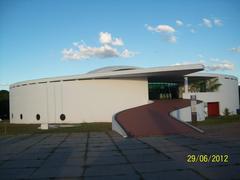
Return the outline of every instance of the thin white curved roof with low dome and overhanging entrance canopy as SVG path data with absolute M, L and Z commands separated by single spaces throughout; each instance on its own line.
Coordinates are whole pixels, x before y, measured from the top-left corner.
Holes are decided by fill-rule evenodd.
M 202 64 L 175 65 L 152 68 L 138 68 L 134 66 L 111 66 L 96 69 L 86 74 L 22 81 L 10 85 L 10 88 L 37 83 L 103 78 L 161 78 L 163 81 L 178 81 L 187 74 L 202 70 L 204 70 L 204 66 Z

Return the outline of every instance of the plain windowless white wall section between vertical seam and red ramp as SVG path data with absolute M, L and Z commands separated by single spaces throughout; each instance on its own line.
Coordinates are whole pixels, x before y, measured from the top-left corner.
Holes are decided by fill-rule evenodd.
M 121 110 L 146 104 L 146 80 L 84 80 L 63 83 L 66 122 L 111 122 Z

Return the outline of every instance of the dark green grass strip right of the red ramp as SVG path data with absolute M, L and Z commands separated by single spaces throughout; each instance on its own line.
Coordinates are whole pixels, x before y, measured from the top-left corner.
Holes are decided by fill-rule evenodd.
M 197 122 L 197 125 L 218 125 L 233 122 L 240 122 L 240 115 L 207 117 L 204 121 Z

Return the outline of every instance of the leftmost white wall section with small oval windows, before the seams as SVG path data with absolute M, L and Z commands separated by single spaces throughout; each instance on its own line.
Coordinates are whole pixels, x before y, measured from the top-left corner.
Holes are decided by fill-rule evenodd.
M 11 89 L 11 123 L 41 123 L 47 121 L 46 84 L 34 84 Z M 22 114 L 22 119 L 20 115 Z M 40 120 L 36 120 L 36 115 Z

